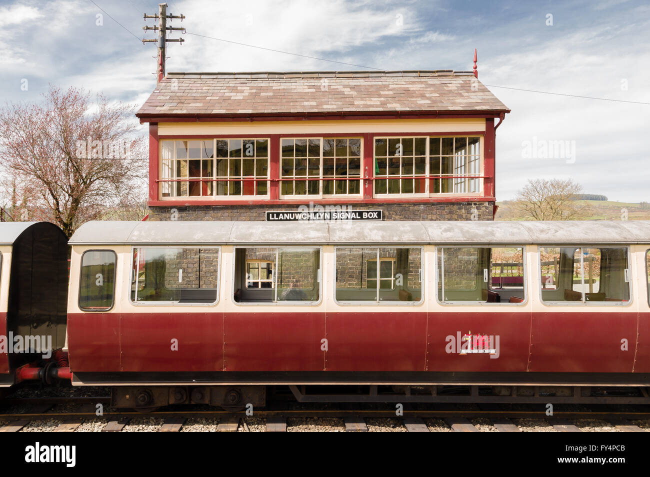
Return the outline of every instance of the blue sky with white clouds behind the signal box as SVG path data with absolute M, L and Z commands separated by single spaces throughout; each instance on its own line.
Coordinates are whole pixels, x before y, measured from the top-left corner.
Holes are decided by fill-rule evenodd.
M 0 102 L 40 101 L 55 84 L 139 107 L 155 88 L 142 14 L 157 10 L 0 0 Z M 187 32 L 168 44 L 167 71 L 467 71 L 476 48 L 480 81 L 512 110 L 497 129 L 497 200 L 528 179 L 571 178 L 588 194 L 650 201 L 647 0 L 174 0 L 170 13 Z M 564 154 L 543 153 L 558 141 Z

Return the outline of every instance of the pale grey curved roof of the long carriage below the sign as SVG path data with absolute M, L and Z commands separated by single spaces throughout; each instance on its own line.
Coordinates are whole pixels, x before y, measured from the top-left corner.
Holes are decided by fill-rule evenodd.
M 649 244 L 650 221 L 86 222 L 81 244 Z

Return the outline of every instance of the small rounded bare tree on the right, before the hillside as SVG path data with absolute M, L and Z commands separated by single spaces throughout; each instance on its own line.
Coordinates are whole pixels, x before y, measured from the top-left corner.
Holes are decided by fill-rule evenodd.
M 571 179 L 528 179 L 515 198 L 515 207 L 533 220 L 576 220 L 587 213 L 577 194 L 582 186 Z

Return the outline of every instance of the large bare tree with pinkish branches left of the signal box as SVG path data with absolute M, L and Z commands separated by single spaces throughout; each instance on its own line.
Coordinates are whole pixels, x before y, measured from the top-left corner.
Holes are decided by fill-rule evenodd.
M 12 209 L 23 204 L 30 220 L 53 222 L 70 237 L 127 192 L 144 194 L 146 144 L 133 112 L 101 94 L 91 100 L 85 90 L 54 86 L 40 104 L 0 109 L 0 167 L 12 181 Z M 27 220 L 18 211 L 14 218 Z

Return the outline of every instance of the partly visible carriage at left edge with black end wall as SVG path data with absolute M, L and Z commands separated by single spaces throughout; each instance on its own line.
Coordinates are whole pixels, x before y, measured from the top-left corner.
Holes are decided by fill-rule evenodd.
M 0 387 L 70 379 L 66 339 L 68 239 L 48 222 L 0 224 Z M 52 359 L 47 367 L 42 357 Z M 63 367 L 54 363 L 62 359 Z M 36 363 L 36 364 L 34 364 Z

